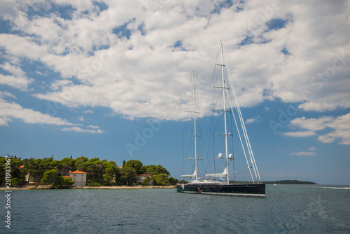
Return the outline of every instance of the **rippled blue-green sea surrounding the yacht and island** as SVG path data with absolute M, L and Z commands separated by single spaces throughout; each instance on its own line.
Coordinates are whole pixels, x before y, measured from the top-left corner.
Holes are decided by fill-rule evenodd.
M 0 233 L 350 233 L 349 186 L 266 185 L 266 197 L 174 188 L 0 191 Z M 10 210 L 10 228 L 6 215 Z

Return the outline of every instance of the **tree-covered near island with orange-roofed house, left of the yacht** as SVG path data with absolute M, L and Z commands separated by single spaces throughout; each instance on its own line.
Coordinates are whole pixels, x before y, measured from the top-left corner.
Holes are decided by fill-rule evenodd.
M 84 156 L 62 160 L 0 156 L 0 170 L 0 184 L 6 188 L 173 188 L 178 183 L 162 165 L 143 165 L 139 160 L 124 160 L 118 166 Z

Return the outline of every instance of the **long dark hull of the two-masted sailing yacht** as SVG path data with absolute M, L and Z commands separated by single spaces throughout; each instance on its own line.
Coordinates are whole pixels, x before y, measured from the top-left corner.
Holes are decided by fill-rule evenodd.
M 265 197 L 265 184 L 186 184 L 176 186 L 176 191 L 179 193 Z

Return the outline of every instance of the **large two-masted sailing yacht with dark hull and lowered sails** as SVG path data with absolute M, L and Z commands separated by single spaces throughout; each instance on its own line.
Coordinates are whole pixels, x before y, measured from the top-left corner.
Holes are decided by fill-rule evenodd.
M 200 193 L 200 194 L 212 194 L 212 195 L 246 195 L 246 196 L 265 196 L 265 184 L 260 179 L 260 174 L 258 172 L 258 167 L 255 163 L 255 158 L 253 156 L 253 151 L 251 149 L 251 144 L 248 139 L 248 135 L 246 133 L 246 128 L 244 125 L 243 117 L 241 116 L 241 110 L 239 108 L 239 103 L 237 101 L 237 95 L 235 92 L 235 88 L 232 83 L 232 79 L 230 77 L 230 71 L 228 69 L 228 65 L 225 64 L 225 60 L 223 57 L 223 43 L 220 41 L 220 50 L 219 50 L 220 58 L 216 62 L 216 66 L 220 67 L 221 78 L 219 79 L 219 84 L 214 84 L 213 88 L 220 90 L 218 93 L 221 96 L 222 104 L 219 109 L 215 109 L 213 107 L 213 111 L 216 111 L 216 114 L 213 114 L 214 117 L 221 117 L 223 119 L 223 133 L 214 133 L 214 135 L 219 135 L 224 138 L 224 147 L 223 153 L 218 153 L 217 157 L 214 157 L 214 160 L 224 160 L 225 167 L 222 173 L 212 173 L 205 174 L 205 177 L 202 179 L 198 177 L 198 167 L 197 161 L 202 160 L 197 156 L 197 132 L 196 132 L 196 119 L 197 113 L 196 104 L 195 104 L 195 79 L 193 78 L 193 124 L 194 124 L 194 144 L 195 144 L 195 170 L 193 174 L 185 174 L 181 177 L 190 178 L 187 184 L 178 184 L 176 186 L 176 191 L 179 193 Z M 224 76 L 224 69 L 225 74 Z M 231 91 L 231 92 L 230 92 Z M 232 104 L 230 101 L 230 97 L 233 97 L 235 100 L 235 108 L 237 109 L 237 113 L 239 116 L 240 128 L 237 124 L 237 119 L 234 115 Z M 230 108 L 228 107 L 230 106 Z M 221 114 L 219 114 L 221 113 Z M 233 156 L 233 146 L 229 147 L 229 137 L 232 138 L 232 134 L 228 132 L 228 125 L 233 125 L 230 123 L 230 118 L 228 115 L 233 116 L 234 123 L 237 127 L 238 138 L 242 146 L 242 151 L 244 157 L 246 159 L 246 165 L 248 171 L 251 175 L 251 183 L 237 183 L 237 181 L 233 181 L 230 183 L 230 161 L 234 160 Z M 231 118 L 232 119 L 232 118 Z M 233 121 L 232 121 L 233 122 Z M 244 139 L 241 137 L 240 131 L 243 132 Z M 233 139 L 233 138 L 232 138 Z M 244 143 L 245 142 L 245 146 Z M 219 147 L 220 148 L 220 147 Z M 231 152 L 230 152 L 231 151 Z M 190 158 L 193 159 L 193 158 Z M 220 178 L 220 180 L 216 179 Z

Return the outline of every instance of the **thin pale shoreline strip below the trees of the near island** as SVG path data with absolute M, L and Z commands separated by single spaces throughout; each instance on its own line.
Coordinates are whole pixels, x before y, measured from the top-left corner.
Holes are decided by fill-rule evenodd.
M 39 190 L 39 189 L 149 189 L 149 188 L 176 188 L 176 186 L 72 186 L 71 188 L 52 188 L 51 185 L 39 185 L 39 186 L 25 186 L 25 187 L 13 187 L 6 188 L 0 187 L 0 191 L 14 191 L 14 190 Z

